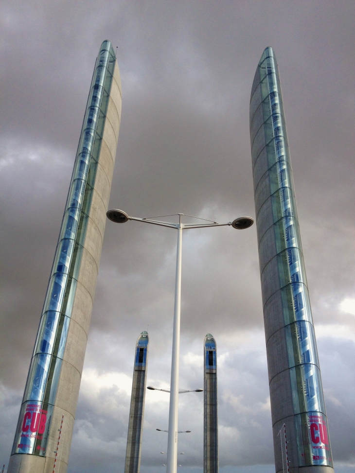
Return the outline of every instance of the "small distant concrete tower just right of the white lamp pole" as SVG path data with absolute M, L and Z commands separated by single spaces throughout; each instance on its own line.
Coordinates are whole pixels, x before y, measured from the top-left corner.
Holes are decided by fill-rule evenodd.
M 204 473 L 218 473 L 217 352 L 216 342 L 207 333 L 204 341 Z

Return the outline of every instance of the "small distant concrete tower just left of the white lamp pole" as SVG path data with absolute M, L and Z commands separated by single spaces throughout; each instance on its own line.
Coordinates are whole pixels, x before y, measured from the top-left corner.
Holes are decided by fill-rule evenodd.
M 127 436 L 126 463 L 124 473 L 139 473 L 143 432 L 145 385 L 147 382 L 148 333 L 138 337 L 134 358 L 131 408 Z

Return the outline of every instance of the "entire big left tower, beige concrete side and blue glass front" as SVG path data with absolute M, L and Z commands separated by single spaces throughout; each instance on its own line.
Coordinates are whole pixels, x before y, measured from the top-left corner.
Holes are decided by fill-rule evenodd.
M 121 120 L 121 80 L 101 45 L 74 162 L 9 473 L 65 473 Z M 59 443 L 58 443 L 59 442 Z

